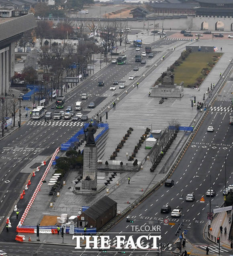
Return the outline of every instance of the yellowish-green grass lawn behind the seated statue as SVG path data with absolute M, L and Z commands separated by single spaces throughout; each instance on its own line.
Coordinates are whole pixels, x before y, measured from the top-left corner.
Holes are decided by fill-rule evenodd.
M 204 77 L 201 73 L 203 68 L 211 68 L 208 66 L 208 62 L 213 62 L 213 56 L 217 55 L 217 52 L 195 52 L 190 53 L 186 60 L 180 66 L 176 66 L 173 71 L 175 74 L 174 83 L 179 85 L 181 81 L 184 81 L 184 87 L 188 85 L 194 85 L 198 77 Z

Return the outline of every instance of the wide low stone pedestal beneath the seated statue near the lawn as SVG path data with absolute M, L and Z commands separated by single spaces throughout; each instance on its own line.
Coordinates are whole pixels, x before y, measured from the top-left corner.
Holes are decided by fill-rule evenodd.
M 150 97 L 168 97 L 168 98 L 182 98 L 184 96 L 184 88 L 182 86 L 174 85 L 155 85 L 151 87 Z

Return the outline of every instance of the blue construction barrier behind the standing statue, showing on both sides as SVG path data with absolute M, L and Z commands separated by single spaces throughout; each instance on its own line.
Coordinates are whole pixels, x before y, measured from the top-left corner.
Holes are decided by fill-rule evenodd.
M 74 136 L 72 136 L 67 142 L 61 144 L 61 151 L 66 151 L 70 147 L 74 147 L 74 142 L 79 142 L 79 135 L 84 134 L 84 129 L 86 129 L 89 126 L 89 123 L 84 124 L 84 128 L 79 130 Z M 96 137 L 95 141 L 97 141 L 107 130 L 108 130 L 108 124 L 98 124 L 99 128 L 104 128 Z

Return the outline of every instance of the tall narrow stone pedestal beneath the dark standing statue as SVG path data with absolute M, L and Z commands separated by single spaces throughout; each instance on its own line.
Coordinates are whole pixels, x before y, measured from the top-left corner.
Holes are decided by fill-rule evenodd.
M 90 180 L 86 180 L 86 177 Z M 83 159 L 83 176 L 82 189 L 89 189 L 97 187 L 97 148 L 96 145 L 87 145 L 84 147 Z

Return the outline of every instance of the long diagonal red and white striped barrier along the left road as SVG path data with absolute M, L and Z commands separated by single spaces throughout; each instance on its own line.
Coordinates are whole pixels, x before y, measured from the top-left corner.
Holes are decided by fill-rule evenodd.
M 55 152 L 53 153 L 53 156 L 51 157 L 51 159 L 49 161 L 49 164 L 48 164 L 47 168 L 45 169 L 45 172 L 44 172 L 41 180 L 39 181 L 39 184 L 37 185 L 37 188 L 35 189 L 32 197 L 31 197 L 31 199 L 30 199 L 30 201 L 29 201 L 29 203 L 28 203 L 28 205 L 27 205 L 27 207 L 26 207 L 26 209 L 25 209 L 25 211 L 24 211 L 24 213 L 23 213 L 23 215 L 22 215 L 22 217 L 21 217 L 21 219 L 19 221 L 18 226 L 21 226 L 23 224 L 23 222 L 25 221 L 25 218 L 26 218 L 26 216 L 27 216 L 27 214 L 28 214 L 28 212 L 29 212 L 29 210 L 30 210 L 30 208 L 31 208 L 31 206 L 32 206 L 32 204 L 33 204 L 33 202 L 34 202 L 34 200 L 35 200 L 39 190 L 41 189 L 43 181 L 45 180 L 45 178 L 46 178 L 46 176 L 47 176 L 47 174 L 48 174 L 48 172 L 49 172 L 49 170 L 50 170 L 50 168 L 52 166 L 52 163 L 55 160 L 55 157 L 57 156 L 59 151 L 60 151 L 60 147 L 57 148 L 55 150 Z

